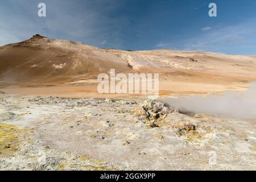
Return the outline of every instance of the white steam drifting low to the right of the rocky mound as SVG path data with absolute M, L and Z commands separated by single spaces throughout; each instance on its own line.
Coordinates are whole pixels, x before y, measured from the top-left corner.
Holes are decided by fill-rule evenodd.
M 245 93 L 225 92 L 221 96 L 188 96 L 164 100 L 171 106 L 200 114 L 225 115 L 232 118 L 256 118 L 256 82 Z

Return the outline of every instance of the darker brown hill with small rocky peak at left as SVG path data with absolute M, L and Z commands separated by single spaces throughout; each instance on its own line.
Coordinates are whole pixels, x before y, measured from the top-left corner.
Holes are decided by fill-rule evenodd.
M 24 42 L 0 47 L 0 80 L 5 82 L 67 82 L 99 73 L 131 72 L 112 53 L 68 40 L 34 35 Z

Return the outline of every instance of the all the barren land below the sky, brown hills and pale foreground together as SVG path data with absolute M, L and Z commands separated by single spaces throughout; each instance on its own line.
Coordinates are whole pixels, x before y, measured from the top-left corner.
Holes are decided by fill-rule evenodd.
M 112 69 L 159 74 L 159 97 L 99 93 Z M 256 56 L 41 35 L 2 46 L 0 169 L 255 170 L 255 70 Z

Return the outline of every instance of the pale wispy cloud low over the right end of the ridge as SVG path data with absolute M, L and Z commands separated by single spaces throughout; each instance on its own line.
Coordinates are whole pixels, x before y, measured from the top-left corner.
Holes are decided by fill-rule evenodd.
M 255 40 L 253 39 L 255 35 L 255 19 L 251 19 L 233 26 L 206 31 L 205 34 L 187 40 L 184 49 L 224 53 L 244 52 L 247 54 L 256 52 Z

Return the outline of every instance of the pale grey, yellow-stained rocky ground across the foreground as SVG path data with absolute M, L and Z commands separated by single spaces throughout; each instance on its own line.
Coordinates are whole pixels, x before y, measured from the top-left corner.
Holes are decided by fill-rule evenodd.
M 255 125 L 150 100 L 0 94 L 0 169 L 255 170 Z

